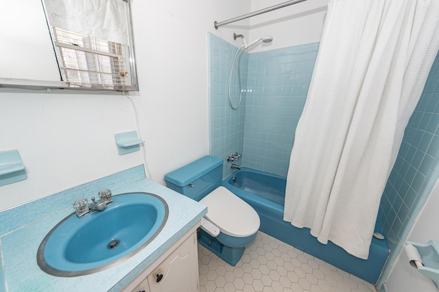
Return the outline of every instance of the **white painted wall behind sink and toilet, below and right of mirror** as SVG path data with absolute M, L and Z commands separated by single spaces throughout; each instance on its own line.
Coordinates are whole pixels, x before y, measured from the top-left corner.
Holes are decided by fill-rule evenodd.
M 140 85 L 132 99 L 154 181 L 208 153 L 206 34 L 233 42 L 233 30 L 215 31 L 213 21 L 249 10 L 250 0 L 132 1 Z M 143 151 L 119 156 L 114 141 L 136 129 L 134 116 L 121 94 L 0 88 L 0 151 L 18 149 L 28 175 L 0 187 L 0 211 L 142 164 Z

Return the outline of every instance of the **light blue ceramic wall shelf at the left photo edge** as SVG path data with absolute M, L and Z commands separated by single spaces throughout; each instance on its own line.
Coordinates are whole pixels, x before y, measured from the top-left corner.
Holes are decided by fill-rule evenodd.
M 0 151 L 0 186 L 27 178 L 25 165 L 18 150 Z

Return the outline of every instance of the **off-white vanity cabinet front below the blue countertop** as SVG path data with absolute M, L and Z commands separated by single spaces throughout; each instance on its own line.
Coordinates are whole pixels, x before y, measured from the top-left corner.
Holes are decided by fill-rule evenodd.
M 123 292 L 196 292 L 199 287 L 196 228 L 191 229 Z

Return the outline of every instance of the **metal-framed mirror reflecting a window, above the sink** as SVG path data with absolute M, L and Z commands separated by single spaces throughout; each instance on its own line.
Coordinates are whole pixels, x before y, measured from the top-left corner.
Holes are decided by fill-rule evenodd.
M 7 2 L 0 87 L 138 90 L 130 0 Z

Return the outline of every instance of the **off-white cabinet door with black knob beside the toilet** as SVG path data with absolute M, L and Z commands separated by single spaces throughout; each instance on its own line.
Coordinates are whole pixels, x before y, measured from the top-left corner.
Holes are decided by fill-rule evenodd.
M 158 265 L 147 279 L 151 292 L 198 291 L 198 252 L 195 233 Z

